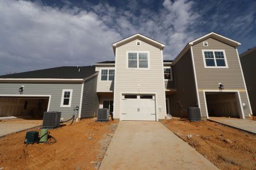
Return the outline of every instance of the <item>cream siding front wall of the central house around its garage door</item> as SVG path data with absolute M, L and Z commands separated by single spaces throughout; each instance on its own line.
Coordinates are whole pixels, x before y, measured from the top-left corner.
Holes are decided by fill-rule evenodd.
M 141 41 L 141 45 L 135 45 Z M 149 52 L 150 69 L 127 69 L 127 52 Z M 140 88 L 138 88 L 138 85 Z M 119 118 L 123 92 L 134 94 L 156 94 L 156 114 L 159 119 L 166 116 L 163 58 L 159 48 L 143 40 L 134 39 L 118 46 L 115 57 L 114 117 Z M 160 111 L 160 108 L 161 111 Z

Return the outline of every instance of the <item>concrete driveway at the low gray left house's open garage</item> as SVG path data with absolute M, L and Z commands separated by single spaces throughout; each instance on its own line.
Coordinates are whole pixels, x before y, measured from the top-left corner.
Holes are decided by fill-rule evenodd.
M 41 124 L 22 124 L 22 123 L 7 123 L 0 122 L 0 137 L 7 134 L 15 133 L 18 131 L 34 128 L 40 126 Z

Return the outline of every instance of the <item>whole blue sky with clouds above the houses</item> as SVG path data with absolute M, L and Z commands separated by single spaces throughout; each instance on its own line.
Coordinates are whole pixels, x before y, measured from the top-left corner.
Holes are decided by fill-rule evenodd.
M 256 45 L 256 1 L 0 0 L 0 75 L 114 60 L 113 42 L 141 33 L 174 59 L 209 32 Z

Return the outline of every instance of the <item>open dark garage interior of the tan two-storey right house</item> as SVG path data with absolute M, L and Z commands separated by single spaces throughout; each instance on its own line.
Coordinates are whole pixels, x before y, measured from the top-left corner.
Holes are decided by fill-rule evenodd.
M 236 92 L 205 92 L 209 117 L 240 118 Z

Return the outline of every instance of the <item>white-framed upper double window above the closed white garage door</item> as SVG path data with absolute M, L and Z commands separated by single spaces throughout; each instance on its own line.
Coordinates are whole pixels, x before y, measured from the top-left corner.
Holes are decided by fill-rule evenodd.
M 128 68 L 148 68 L 148 53 L 147 52 L 129 52 L 128 53 Z

